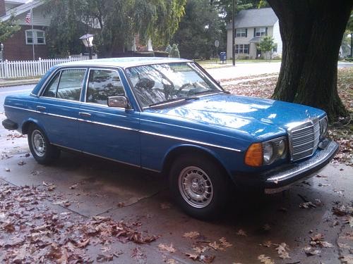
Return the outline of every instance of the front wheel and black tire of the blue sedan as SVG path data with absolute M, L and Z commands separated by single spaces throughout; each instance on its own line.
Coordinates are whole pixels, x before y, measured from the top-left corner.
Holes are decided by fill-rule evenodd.
M 217 218 L 227 205 L 230 180 L 210 158 L 183 155 L 169 173 L 169 189 L 179 206 L 193 218 Z

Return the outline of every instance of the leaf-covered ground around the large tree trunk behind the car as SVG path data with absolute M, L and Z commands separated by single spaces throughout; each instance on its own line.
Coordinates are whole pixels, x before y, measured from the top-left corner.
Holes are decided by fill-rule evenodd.
M 259 77 L 263 77 L 260 79 Z M 225 89 L 233 94 L 244 96 L 256 96 L 270 98 L 276 86 L 277 76 L 266 77 L 260 75 L 256 77 L 241 77 L 234 80 L 222 80 Z M 245 82 L 241 80 L 246 79 Z M 230 84 L 232 81 L 237 84 Z M 347 110 L 353 115 L 353 68 L 340 68 L 338 70 L 337 80 L 338 94 L 342 99 Z M 334 158 L 334 162 L 353 165 L 353 123 L 348 125 L 333 126 L 330 125 L 328 133 L 330 137 L 340 144 L 340 151 Z

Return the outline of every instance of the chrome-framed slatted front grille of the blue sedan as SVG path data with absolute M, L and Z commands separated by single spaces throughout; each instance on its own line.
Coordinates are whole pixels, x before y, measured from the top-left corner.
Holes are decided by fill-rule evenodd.
M 318 119 L 308 120 L 288 129 L 289 150 L 292 161 L 309 157 L 318 148 L 320 123 Z

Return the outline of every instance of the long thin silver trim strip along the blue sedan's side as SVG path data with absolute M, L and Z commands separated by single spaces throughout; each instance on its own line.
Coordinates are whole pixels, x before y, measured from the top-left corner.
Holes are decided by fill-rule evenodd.
M 159 134 L 159 133 L 149 132 L 149 131 L 146 131 L 146 130 L 137 130 L 137 129 L 133 129 L 131 127 L 121 127 L 119 125 L 110 125 L 110 124 L 103 123 L 103 122 L 95 122 L 95 121 L 90 121 L 90 120 L 83 120 L 83 119 L 80 119 L 80 118 L 71 118 L 71 117 L 64 116 L 64 115 L 56 115 L 56 114 L 53 114 L 53 113 L 43 113 L 43 112 L 40 112 L 40 111 L 29 110 L 29 109 L 25 109 L 25 108 L 19 108 L 19 107 L 16 107 L 16 106 L 8 106 L 8 107 L 18 108 L 18 109 L 22 109 L 22 110 L 25 110 L 25 111 L 32 111 L 32 112 L 35 112 L 35 113 L 42 113 L 44 115 L 53 115 L 53 116 L 56 116 L 58 118 L 67 118 L 67 119 L 71 119 L 71 120 L 78 120 L 80 122 L 90 122 L 92 124 L 97 124 L 97 125 L 105 125 L 105 126 L 108 126 L 108 127 L 116 127 L 116 128 L 121 129 L 121 130 L 136 131 L 136 132 L 140 132 L 140 133 L 143 133 L 143 134 L 151 134 L 151 135 L 157 136 L 157 137 L 165 137 L 165 138 L 168 138 L 168 139 L 181 140 L 183 142 L 190 142 L 190 143 L 194 143 L 194 144 L 200 144 L 200 145 L 203 145 L 203 146 L 213 146 L 213 147 L 218 148 L 218 149 L 227 149 L 228 151 L 241 152 L 240 149 L 233 149 L 233 148 L 229 148 L 228 146 L 220 146 L 220 145 L 210 144 L 210 143 L 206 143 L 206 142 L 199 142 L 199 141 L 196 141 L 196 140 L 193 140 L 193 139 L 186 139 L 184 137 L 172 137 L 172 136 L 169 136 L 167 134 Z

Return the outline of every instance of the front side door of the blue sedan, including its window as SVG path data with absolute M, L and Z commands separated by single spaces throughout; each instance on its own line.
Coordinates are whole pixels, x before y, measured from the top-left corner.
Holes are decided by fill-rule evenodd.
M 79 113 L 82 151 L 139 166 L 139 112 L 109 107 L 109 96 L 126 96 L 118 71 L 90 68 Z

